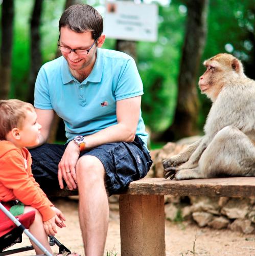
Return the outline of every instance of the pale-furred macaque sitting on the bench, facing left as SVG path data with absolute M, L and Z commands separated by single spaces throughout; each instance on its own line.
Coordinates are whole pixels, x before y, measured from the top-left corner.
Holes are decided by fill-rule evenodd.
M 205 135 L 163 161 L 164 177 L 255 177 L 255 81 L 230 54 L 217 54 L 203 64 L 206 71 L 198 84 L 213 101 Z

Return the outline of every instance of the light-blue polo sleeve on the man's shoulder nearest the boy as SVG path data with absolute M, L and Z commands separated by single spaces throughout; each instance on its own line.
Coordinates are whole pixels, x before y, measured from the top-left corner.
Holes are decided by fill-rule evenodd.
M 47 74 L 42 66 L 35 82 L 35 108 L 42 110 L 53 109 L 48 86 Z

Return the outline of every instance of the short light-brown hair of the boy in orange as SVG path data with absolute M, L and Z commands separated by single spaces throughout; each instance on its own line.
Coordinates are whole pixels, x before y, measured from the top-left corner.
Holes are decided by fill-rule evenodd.
M 0 140 L 13 128 L 22 128 L 26 110 L 35 111 L 34 106 L 18 99 L 0 100 Z

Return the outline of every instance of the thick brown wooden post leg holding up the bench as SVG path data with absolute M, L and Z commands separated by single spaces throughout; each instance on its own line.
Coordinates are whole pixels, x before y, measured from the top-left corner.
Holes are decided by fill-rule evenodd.
M 120 195 L 122 256 L 164 256 L 164 196 Z

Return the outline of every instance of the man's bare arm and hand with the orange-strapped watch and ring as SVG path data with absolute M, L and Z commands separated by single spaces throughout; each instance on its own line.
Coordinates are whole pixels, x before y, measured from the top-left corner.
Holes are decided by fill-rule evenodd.
M 107 127 L 95 134 L 85 136 L 85 148 L 90 149 L 110 142 L 132 142 L 135 137 L 137 123 L 141 110 L 141 96 L 117 101 L 118 123 Z M 80 150 L 78 145 L 71 141 L 68 143 L 64 155 L 59 163 L 58 180 L 63 188 L 64 178 L 69 189 L 76 188 L 75 166 L 79 158 Z M 71 175 L 66 176 L 66 172 Z

